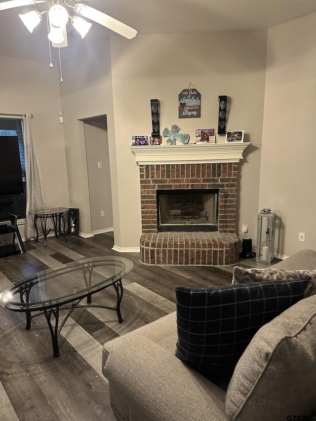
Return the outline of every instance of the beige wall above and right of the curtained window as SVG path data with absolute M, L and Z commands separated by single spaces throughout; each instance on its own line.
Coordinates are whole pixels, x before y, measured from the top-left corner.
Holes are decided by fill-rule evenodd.
M 48 206 L 69 206 L 58 69 L 0 56 L 0 113 L 34 114 L 32 134 Z

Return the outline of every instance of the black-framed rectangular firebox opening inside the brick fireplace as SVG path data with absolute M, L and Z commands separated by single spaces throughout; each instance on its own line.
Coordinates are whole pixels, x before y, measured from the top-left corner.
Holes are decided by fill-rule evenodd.
M 219 189 L 157 190 L 158 231 L 218 231 Z

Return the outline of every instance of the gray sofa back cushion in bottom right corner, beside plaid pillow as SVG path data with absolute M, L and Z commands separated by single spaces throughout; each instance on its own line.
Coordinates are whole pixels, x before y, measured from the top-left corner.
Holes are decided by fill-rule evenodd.
M 316 411 L 316 296 L 285 310 L 254 336 L 226 395 L 235 421 L 286 420 Z M 302 418 L 303 419 L 303 418 Z

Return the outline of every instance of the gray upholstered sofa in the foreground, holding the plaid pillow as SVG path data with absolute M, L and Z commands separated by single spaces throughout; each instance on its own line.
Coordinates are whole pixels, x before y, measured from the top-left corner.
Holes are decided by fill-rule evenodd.
M 273 266 L 314 270 L 316 251 Z M 316 295 L 256 333 L 227 391 L 175 357 L 177 338 L 173 312 L 104 345 L 103 374 L 117 420 L 316 421 Z

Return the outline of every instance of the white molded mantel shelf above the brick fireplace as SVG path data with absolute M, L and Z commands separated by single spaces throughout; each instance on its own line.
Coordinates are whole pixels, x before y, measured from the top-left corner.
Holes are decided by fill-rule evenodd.
M 239 162 L 247 142 L 130 146 L 138 165 Z

